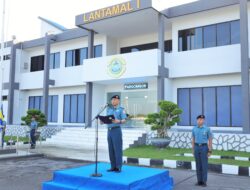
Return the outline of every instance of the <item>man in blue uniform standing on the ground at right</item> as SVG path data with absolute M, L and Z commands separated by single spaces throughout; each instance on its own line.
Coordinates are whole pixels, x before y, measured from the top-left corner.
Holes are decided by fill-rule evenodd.
M 196 162 L 198 186 L 207 186 L 208 157 L 212 154 L 212 132 L 204 125 L 205 116 L 197 117 L 197 126 L 192 131 L 192 147 Z

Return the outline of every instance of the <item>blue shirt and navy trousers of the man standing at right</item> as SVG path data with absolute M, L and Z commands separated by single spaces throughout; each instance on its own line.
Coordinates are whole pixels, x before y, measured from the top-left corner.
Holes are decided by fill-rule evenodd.
M 194 157 L 196 162 L 196 174 L 198 182 L 207 182 L 208 170 L 208 140 L 212 138 L 212 132 L 209 127 L 203 125 L 195 126 L 192 131 L 194 138 Z

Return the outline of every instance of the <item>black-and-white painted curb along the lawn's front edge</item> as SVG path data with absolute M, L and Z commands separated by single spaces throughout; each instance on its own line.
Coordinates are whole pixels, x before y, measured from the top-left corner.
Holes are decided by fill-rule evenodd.
M 157 166 L 171 169 L 196 170 L 195 162 L 177 160 L 158 160 L 150 158 L 129 158 L 123 157 L 126 164 L 136 164 L 140 166 Z M 250 177 L 250 167 L 234 166 L 228 164 L 208 164 L 208 170 L 219 174 L 230 174 Z

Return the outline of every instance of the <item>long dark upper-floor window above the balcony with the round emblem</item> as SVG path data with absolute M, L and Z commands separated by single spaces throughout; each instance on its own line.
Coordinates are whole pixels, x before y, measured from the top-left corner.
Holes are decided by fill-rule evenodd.
M 121 53 L 130 53 L 130 52 L 137 52 L 137 51 L 145 51 L 150 49 L 157 49 L 158 43 L 148 43 L 148 44 L 141 44 L 136 46 L 130 46 L 130 47 L 123 47 L 121 48 Z M 172 52 L 172 40 L 165 41 L 165 52 Z

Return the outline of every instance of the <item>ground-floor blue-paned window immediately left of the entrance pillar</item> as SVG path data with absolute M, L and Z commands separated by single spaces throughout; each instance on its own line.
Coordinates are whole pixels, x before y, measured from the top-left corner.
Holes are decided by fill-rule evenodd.
M 64 96 L 64 123 L 85 122 L 85 94 Z

